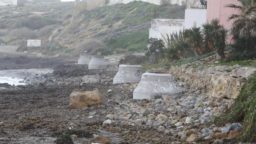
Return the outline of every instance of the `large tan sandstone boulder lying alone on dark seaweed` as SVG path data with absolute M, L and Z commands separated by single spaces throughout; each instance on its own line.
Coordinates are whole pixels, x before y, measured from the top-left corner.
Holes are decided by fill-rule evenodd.
M 71 109 L 84 109 L 87 106 L 98 106 L 100 103 L 102 103 L 102 97 L 99 93 L 99 90 L 87 92 L 72 92 L 70 98 Z

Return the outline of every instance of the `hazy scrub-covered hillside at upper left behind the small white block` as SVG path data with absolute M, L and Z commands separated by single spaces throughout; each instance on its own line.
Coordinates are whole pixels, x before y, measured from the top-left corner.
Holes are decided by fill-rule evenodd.
M 46 37 L 73 11 L 74 2 L 3 6 L 0 8 L 0 43 L 20 46 L 26 44 L 26 39 L 41 39 L 47 45 Z

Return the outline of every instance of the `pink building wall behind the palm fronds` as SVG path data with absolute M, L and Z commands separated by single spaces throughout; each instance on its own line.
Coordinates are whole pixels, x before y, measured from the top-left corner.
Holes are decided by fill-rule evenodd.
M 226 4 L 230 3 L 239 5 L 237 0 L 207 0 L 207 22 L 210 22 L 211 19 L 218 18 L 221 24 L 230 30 L 233 21 L 227 21 L 227 18 L 231 14 L 238 13 L 234 8 L 225 7 Z M 231 43 L 231 36 L 228 43 Z

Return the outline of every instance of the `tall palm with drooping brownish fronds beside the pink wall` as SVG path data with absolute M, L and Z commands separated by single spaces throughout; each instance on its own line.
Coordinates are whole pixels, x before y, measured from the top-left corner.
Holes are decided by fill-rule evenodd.
M 244 43 L 243 49 L 232 51 L 232 55 L 237 57 L 241 54 L 244 59 L 256 57 L 256 0 L 237 0 L 241 4 L 228 4 L 226 7 L 235 8 L 238 14 L 232 14 L 228 20 L 234 20 L 231 26 L 232 40 L 235 43 Z M 232 49 L 237 49 L 231 45 Z

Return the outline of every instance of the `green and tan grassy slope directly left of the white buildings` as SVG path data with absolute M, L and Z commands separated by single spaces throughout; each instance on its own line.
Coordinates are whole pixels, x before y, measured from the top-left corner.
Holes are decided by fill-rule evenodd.
M 157 6 L 141 1 L 104 6 L 74 14 L 50 40 L 73 48 L 83 40 L 93 39 L 104 42 L 111 51 L 145 51 L 154 8 L 184 12 L 182 6 Z

